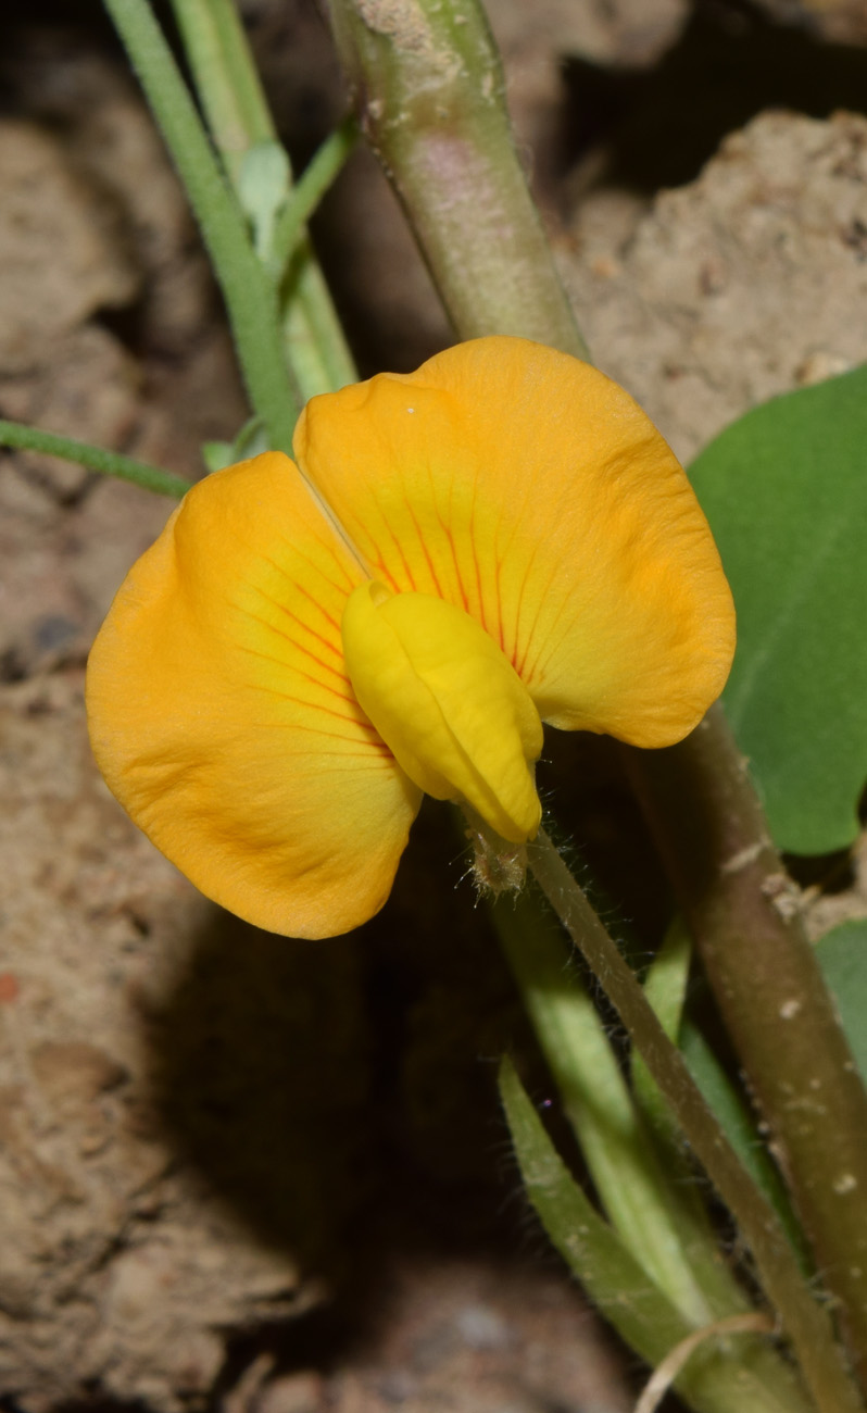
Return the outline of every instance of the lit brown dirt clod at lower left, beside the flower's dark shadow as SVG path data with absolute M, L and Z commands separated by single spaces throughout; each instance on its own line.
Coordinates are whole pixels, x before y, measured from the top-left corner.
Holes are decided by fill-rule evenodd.
M 213 910 L 95 776 L 80 673 L 3 690 L 0 790 L 0 1389 L 172 1410 L 212 1388 L 223 1328 L 306 1299 L 154 1112 L 136 998 L 171 992 Z

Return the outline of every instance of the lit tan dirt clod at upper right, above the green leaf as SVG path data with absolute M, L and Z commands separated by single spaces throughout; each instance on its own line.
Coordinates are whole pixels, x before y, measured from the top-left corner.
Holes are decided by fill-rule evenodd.
M 650 211 L 600 191 L 561 270 L 600 366 L 689 461 L 747 408 L 867 359 L 867 119 L 763 113 Z

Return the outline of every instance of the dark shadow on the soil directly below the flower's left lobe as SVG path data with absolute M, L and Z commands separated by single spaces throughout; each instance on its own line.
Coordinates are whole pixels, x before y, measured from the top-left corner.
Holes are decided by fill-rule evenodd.
M 446 1245 L 503 1236 L 496 1065 L 531 1043 L 469 882 L 442 886 L 465 869 L 448 821 L 418 822 L 360 933 L 289 945 L 222 914 L 147 1017 L 178 1150 L 261 1241 L 337 1286 L 363 1228 L 398 1208 Z

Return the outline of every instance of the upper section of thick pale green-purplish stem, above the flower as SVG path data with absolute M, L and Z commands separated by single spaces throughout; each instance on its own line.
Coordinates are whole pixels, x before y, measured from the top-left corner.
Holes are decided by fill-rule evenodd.
M 520 333 L 586 357 L 508 130 L 480 7 L 329 0 L 329 13 L 361 129 L 459 338 Z

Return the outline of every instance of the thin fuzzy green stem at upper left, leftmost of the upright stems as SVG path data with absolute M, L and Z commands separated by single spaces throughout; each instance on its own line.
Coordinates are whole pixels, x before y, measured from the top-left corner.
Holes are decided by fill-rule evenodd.
M 274 290 L 147 0 L 106 0 L 106 7 L 196 213 L 253 407 L 268 428 L 271 447 L 288 452 L 299 407 L 285 374 Z

